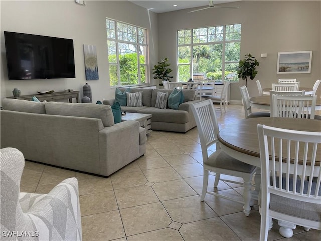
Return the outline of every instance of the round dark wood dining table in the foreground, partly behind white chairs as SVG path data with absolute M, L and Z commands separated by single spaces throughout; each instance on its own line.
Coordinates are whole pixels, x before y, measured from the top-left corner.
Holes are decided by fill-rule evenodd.
M 218 134 L 218 140 L 222 150 L 228 153 L 230 156 L 260 167 L 260 148 L 257 135 L 257 124 L 265 124 L 267 126 L 301 130 L 321 132 L 321 121 L 314 119 L 297 119 L 297 118 L 249 118 L 242 119 L 237 122 L 228 124 Z M 300 157 L 301 154 L 299 154 Z M 321 148 L 317 149 L 316 153 L 317 162 L 321 162 Z M 317 163 L 316 162 L 316 163 Z M 260 169 L 256 171 L 254 176 L 255 189 L 252 192 L 252 198 L 257 199 L 259 195 L 259 188 L 261 185 L 261 173 Z M 279 220 L 279 224 L 280 221 Z M 283 224 L 292 225 L 295 228 L 295 224 L 289 222 L 283 222 Z

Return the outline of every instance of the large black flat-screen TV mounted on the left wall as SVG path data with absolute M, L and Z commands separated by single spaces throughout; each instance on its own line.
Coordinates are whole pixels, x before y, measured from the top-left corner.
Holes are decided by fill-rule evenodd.
M 72 39 L 4 33 L 9 80 L 76 77 Z

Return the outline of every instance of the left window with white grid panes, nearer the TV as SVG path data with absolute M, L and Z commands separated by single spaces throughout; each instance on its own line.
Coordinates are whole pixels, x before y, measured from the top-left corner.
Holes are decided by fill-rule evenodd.
M 106 18 L 110 86 L 147 83 L 147 30 Z

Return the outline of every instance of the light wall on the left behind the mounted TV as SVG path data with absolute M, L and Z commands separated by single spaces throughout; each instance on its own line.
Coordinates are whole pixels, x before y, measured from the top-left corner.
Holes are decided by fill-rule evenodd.
M 86 82 L 92 88 L 93 103 L 113 98 L 115 89 L 110 88 L 107 66 L 106 17 L 147 28 L 150 62 L 155 64 L 158 61 L 157 14 L 150 12 L 149 21 L 147 10 L 129 1 L 86 1 L 86 6 L 78 5 L 74 0 L 0 1 L 0 11 L 1 99 L 12 96 L 13 88 L 19 88 L 21 95 L 42 90 L 74 89 L 81 91 L 82 96 L 82 86 Z M 76 78 L 9 81 L 4 31 L 73 39 Z M 99 80 L 86 81 L 83 44 L 97 48 Z

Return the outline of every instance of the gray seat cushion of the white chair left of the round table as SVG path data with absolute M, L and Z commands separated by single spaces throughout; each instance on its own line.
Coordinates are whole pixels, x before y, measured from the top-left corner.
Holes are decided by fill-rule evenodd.
M 204 162 L 204 168 L 216 167 L 222 169 L 228 169 L 232 171 L 252 173 L 255 166 L 241 162 L 228 154 L 226 154 L 222 149 L 215 151 L 209 156 L 209 158 Z

